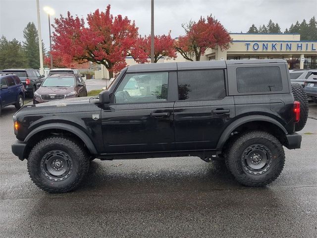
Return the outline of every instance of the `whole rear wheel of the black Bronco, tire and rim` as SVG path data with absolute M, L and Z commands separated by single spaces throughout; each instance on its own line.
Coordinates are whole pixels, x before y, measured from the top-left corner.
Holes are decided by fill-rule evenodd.
M 238 182 L 246 186 L 264 186 L 282 172 L 283 146 L 265 131 L 250 131 L 238 137 L 228 148 L 226 166 Z

